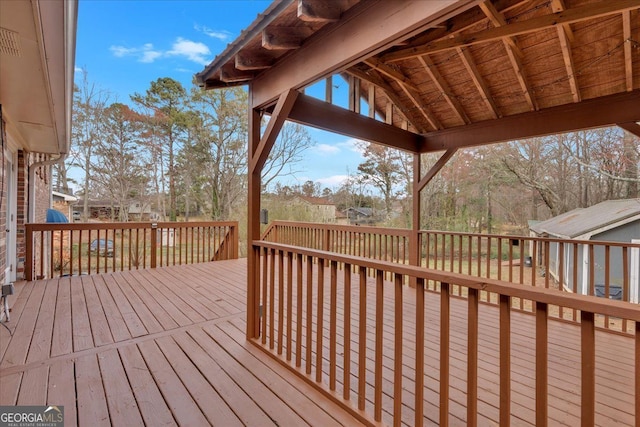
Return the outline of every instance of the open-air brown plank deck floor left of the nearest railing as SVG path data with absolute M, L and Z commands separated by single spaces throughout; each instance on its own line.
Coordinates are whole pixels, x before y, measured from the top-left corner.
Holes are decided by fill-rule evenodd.
M 358 425 L 245 341 L 246 260 L 28 282 L 0 328 L 0 405 L 71 425 Z

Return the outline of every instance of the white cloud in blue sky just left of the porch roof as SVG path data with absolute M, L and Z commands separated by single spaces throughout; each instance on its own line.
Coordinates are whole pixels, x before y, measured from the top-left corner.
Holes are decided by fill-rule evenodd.
M 152 43 L 145 43 L 141 47 L 111 46 L 109 50 L 117 58 L 132 57 L 138 62 L 152 63 L 159 58 L 177 56 L 195 62 L 200 65 L 207 65 L 210 61 L 211 51 L 204 43 L 178 37 L 170 50 L 162 51 L 154 49 Z

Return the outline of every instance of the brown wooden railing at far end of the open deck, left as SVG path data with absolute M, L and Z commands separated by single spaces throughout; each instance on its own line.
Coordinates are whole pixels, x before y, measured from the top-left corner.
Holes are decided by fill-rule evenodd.
M 234 221 L 26 225 L 26 280 L 235 258 Z

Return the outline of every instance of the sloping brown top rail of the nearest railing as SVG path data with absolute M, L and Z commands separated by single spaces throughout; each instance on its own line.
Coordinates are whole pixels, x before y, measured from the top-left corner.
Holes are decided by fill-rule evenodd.
M 385 270 L 391 273 L 417 277 L 425 280 L 435 280 L 438 282 L 465 286 L 472 289 L 495 292 L 509 297 L 523 298 L 545 304 L 583 310 L 590 313 L 616 316 L 634 320 L 636 322 L 640 321 L 640 305 L 624 301 L 615 301 L 595 296 L 567 293 L 555 289 L 515 285 L 500 280 L 472 277 L 464 274 L 443 272 L 387 261 L 377 261 L 359 256 L 341 255 L 334 252 L 308 249 L 300 246 L 283 245 L 265 241 L 254 241 L 253 245 L 268 249 L 298 253 L 301 255 L 320 257 L 340 263 Z

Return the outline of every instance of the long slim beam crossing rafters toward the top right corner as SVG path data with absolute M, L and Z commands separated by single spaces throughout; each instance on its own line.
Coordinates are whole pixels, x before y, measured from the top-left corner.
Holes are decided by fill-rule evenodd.
M 416 58 L 421 55 L 442 52 L 461 46 L 486 43 L 500 40 L 504 37 L 533 33 L 547 28 L 553 28 L 561 24 L 571 24 L 586 21 L 588 19 L 609 16 L 622 13 L 625 10 L 638 9 L 639 7 L 638 0 L 600 1 L 586 6 L 567 9 L 562 12 L 551 13 L 549 15 L 537 16 L 535 18 L 514 22 L 513 24 L 502 27 L 489 28 L 488 30 L 476 33 L 456 34 L 451 38 L 437 40 L 419 47 L 399 49 L 395 52 L 381 55 L 380 59 L 383 62 L 393 62 L 408 58 Z

